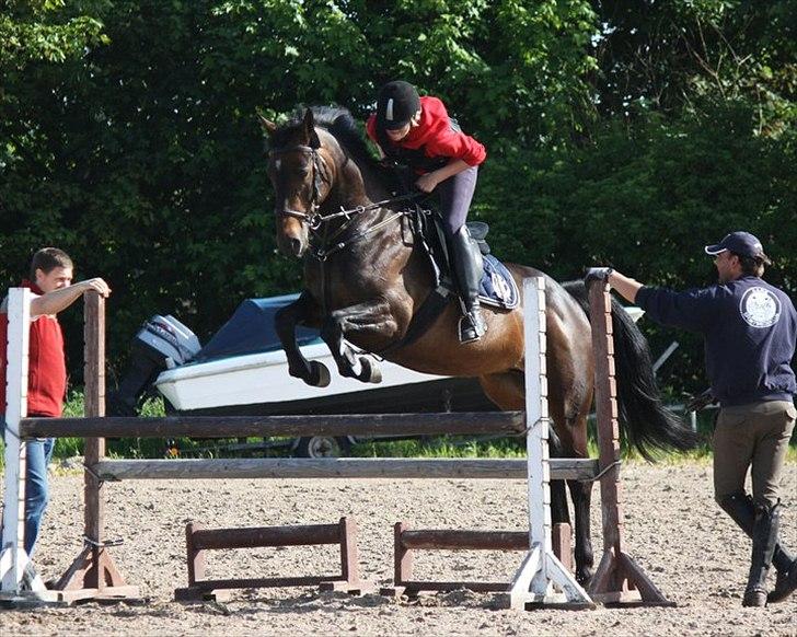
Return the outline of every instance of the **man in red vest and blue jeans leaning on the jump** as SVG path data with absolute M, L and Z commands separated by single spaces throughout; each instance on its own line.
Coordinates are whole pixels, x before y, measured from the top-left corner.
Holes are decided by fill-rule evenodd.
M 63 356 L 63 334 L 56 316 L 88 290 L 103 297 L 111 288 L 101 278 L 72 283 L 72 259 L 57 247 L 44 247 L 33 255 L 31 279 L 22 287 L 35 294 L 31 301 L 31 336 L 28 345 L 27 415 L 58 418 L 63 410 L 67 391 L 67 364 Z M 5 368 L 8 364 L 8 297 L 0 304 L 0 405 L 5 401 Z M 47 465 L 53 455 L 53 438 L 27 441 L 25 471 L 25 553 L 33 554 L 47 508 L 49 489 Z

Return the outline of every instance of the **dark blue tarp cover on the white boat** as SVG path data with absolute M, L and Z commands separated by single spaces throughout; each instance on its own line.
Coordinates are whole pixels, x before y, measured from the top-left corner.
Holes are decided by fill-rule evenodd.
M 299 294 L 246 299 L 235 313 L 197 354 L 195 360 L 241 356 L 280 349 L 282 346 L 274 328 L 277 310 L 292 303 Z M 297 341 L 307 345 L 319 338 L 317 329 L 297 327 Z

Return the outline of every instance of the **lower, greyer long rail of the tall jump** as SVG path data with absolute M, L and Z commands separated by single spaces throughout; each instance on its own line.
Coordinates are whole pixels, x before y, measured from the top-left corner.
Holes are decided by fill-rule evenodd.
M 516 478 L 525 460 L 493 459 L 190 459 L 104 460 L 91 466 L 105 480 L 197 478 Z M 551 459 L 552 479 L 592 479 L 598 461 Z

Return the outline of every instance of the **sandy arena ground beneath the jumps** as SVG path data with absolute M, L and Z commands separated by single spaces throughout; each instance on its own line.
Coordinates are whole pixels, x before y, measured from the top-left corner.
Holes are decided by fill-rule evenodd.
M 240 591 L 224 603 L 182 605 L 187 582 L 184 526 L 359 524 L 361 575 L 390 584 L 392 526 L 521 530 L 519 480 L 140 480 L 107 484 L 107 536 L 138 604 L 89 603 L 67 609 L 0 611 L 0 635 L 797 635 L 797 595 L 765 610 L 741 607 L 749 541 L 712 499 L 707 463 L 624 467 L 626 549 L 675 609 L 596 611 L 497 610 L 494 598 L 455 591 L 415 601 L 351 598 L 315 589 Z M 797 547 L 797 463 L 783 482 L 788 546 Z M 36 564 L 45 579 L 78 555 L 82 477 L 53 478 Z M 600 498 L 592 535 L 600 558 Z M 520 553 L 420 552 L 416 575 L 429 579 L 507 581 Z M 236 563 L 233 560 L 238 559 Z M 333 546 L 208 553 L 208 577 L 274 577 L 337 570 Z

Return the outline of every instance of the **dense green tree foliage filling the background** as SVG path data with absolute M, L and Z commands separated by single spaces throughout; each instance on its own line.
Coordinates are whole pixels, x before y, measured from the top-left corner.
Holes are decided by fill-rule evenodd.
M 487 144 L 474 215 L 499 256 L 693 286 L 711 280 L 703 242 L 743 227 L 794 293 L 796 5 L 5 2 L 0 278 L 53 244 L 107 278 L 115 364 L 155 312 L 204 339 L 242 299 L 300 285 L 276 254 L 255 112 L 339 104 L 365 119 L 403 78 Z M 79 361 L 79 312 L 65 319 Z M 689 384 L 700 348 L 688 355 Z

